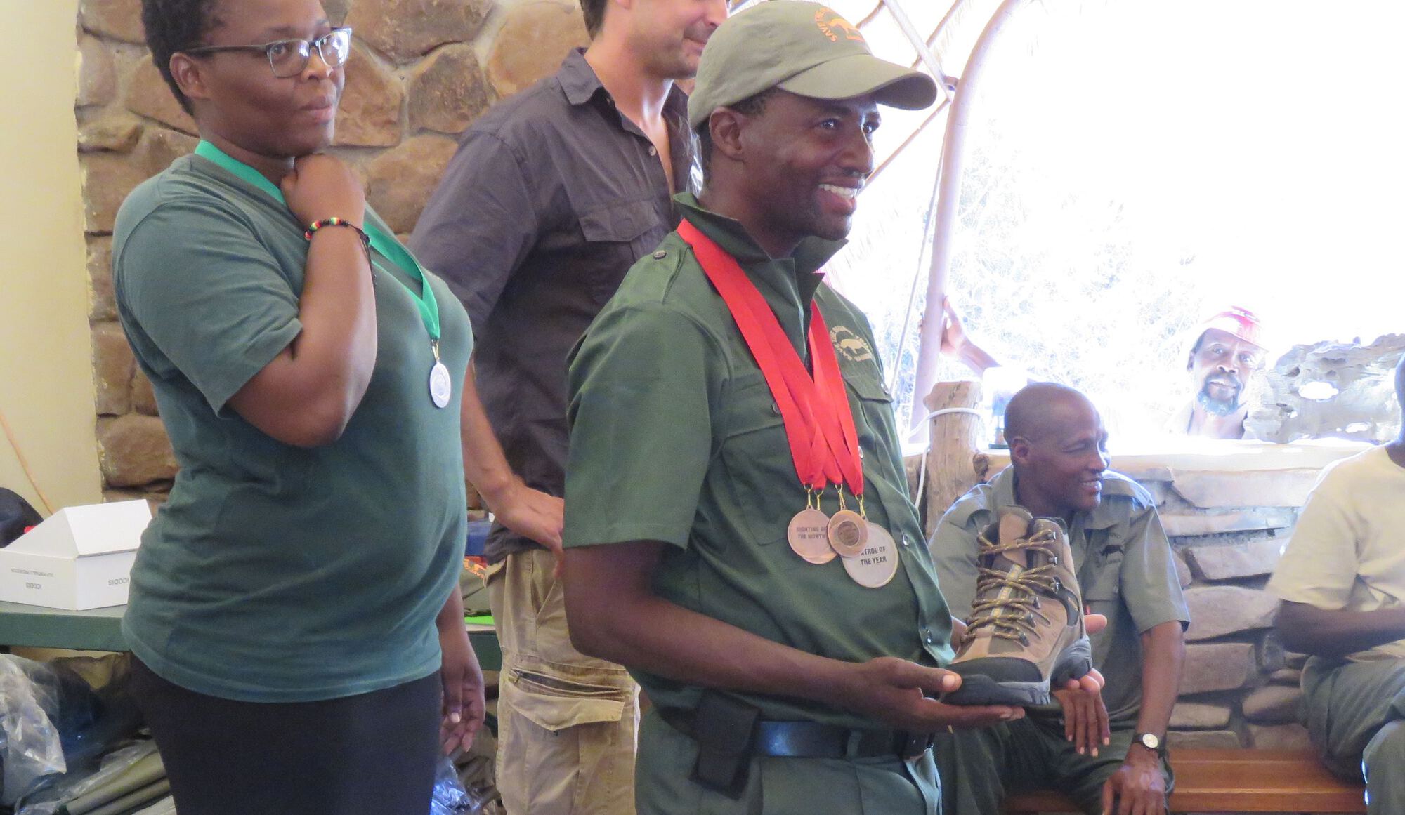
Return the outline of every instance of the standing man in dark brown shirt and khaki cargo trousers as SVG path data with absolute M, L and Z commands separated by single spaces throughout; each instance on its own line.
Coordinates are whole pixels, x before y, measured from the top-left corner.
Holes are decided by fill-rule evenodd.
M 410 239 L 478 339 L 483 410 L 465 393 L 465 459 L 499 521 L 486 555 L 503 646 L 499 788 L 511 815 L 634 811 L 636 687 L 570 646 L 556 576 L 565 360 L 625 271 L 677 225 L 672 194 L 695 188 L 687 98 L 673 82 L 693 76 L 726 17 L 725 0 L 582 7 L 590 46 L 464 133 Z

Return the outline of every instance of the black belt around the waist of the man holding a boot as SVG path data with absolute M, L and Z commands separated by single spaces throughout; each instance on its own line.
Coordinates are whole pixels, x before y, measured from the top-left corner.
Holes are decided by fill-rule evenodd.
M 697 712 L 658 708 L 659 717 L 673 729 L 693 738 Z M 871 759 L 898 756 L 912 759 L 932 746 L 932 734 L 910 734 L 908 731 L 858 731 L 837 725 L 823 725 L 805 721 L 756 722 L 756 739 L 752 742 L 754 756 L 781 756 L 792 759 Z

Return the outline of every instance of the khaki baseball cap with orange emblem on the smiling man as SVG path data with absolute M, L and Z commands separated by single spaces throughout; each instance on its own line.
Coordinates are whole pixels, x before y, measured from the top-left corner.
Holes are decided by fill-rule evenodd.
M 778 87 L 809 98 L 877 94 L 878 103 L 920 110 L 937 83 L 919 70 L 878 59 L 858 27 L 819 3 L 766 0 L 732 15 L 702 49 L 688 126 L 712 111 Z

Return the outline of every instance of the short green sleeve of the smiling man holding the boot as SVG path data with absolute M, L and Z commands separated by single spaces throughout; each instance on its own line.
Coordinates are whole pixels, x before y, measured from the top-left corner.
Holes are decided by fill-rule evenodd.
M 658 305 L 607 308 L 590 326 L 569 374 L 566 547 L 688 545 L 712 451 L 715 348 Z

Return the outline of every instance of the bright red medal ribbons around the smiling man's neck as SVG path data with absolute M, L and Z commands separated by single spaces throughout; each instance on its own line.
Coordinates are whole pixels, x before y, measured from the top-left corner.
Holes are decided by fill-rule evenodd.
M 736 259 L 687 221 L 679 225 L 679 236 L 693 247 L 693 254 L 722 295 L 746 347 L 766 377 L 766 385 L 781 410 L 785 438 L 801 482 L 815 492 L 823 492 L 830 483 L 843 483 L 854 496 L 863 496 L 864 469 L 858 458 L 858 433 L 829 327 L 819 306 L 809 304 L 806 339 L 815 368 L 812 378 L 771 306 Z

